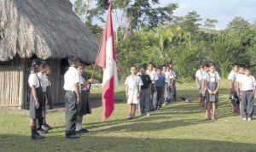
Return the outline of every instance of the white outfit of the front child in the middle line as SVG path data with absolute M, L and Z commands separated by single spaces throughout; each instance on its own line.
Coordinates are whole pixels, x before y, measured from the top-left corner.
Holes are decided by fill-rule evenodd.
M 128 87 L 127 104 L 138 104 L 137 94 L 139 87 L 143 86 L 140 76 L 128 76 L 125 80 L 125 85 Z

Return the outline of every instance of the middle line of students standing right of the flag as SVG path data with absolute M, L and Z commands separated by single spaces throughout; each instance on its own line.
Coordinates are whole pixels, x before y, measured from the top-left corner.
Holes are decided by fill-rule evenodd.
M 150 115 L 150 111 L 160 110 L 162 105 L 176 100 L 176 74 L 171 66 L 162 68 L 148 64 L 140 67 L 137 73 L 136 66 L 131 66 L 131 75 L 125 80 L 125 94 L 129 104 L 128 119 L 135 119 L 138 115 Z M 138 104 L 138 107 L 137 107 Z

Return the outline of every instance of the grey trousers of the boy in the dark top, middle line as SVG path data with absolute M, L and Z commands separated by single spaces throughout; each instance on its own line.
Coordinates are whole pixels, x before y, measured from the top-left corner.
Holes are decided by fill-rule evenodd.
M 139 104 L 138 104 L 138 110 L 141 114 L 145 112 L 149 112 L 150 110 L 149 94 L 150 94 L 149 89 L 141 90 L 141 95 L 140 95 Z

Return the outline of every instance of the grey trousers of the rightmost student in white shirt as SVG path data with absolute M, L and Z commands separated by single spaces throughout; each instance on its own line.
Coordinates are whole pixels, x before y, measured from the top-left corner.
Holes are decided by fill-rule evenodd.
M 243 118 L 253 117 L 253 90 L 241 92 L 241 115 Z

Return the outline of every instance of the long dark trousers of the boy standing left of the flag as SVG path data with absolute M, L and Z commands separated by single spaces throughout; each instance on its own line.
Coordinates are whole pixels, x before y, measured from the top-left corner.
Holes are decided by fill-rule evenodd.
M 67 91 L 65 95 L 66 104 L 66 136 L 75 134 L 77 121 L 77 96 L 75 93 Z

